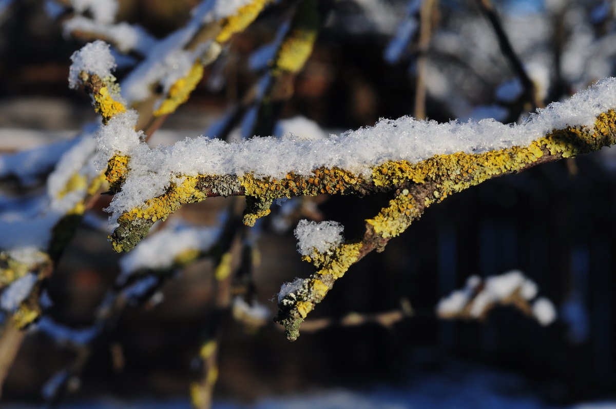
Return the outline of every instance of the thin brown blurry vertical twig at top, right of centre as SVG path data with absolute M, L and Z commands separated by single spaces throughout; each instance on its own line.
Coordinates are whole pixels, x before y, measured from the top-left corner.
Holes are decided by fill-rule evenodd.
M 426 74 L 428 70 L 428 49 L 433 25 L 437 14 L 437 0 L 422 0 L 419 10 L 419 42 L 417 76 L 415 81 L 415 116 L 426 119 Z

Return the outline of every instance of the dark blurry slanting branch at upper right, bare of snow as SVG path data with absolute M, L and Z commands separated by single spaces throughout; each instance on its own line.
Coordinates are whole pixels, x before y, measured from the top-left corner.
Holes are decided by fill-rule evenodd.
M 519 77 L 520 82 L 522 82 L 525 97 L 532 104 L 529 111 L 534 111 L 535 108 L 543 108 L 545 104 L 543 101 L 539 100 L 538 94 L 535 91 L 535 85 L 524 69 L 524 66 L 522 66 L 522 62 L 514 51 L 513 46 L 511 46 L 511 41 L 509 41 L 509 37 L 505 33 L 503 23 L 501 22 L 500 17 L 492 4 L 492 0 L 477 0 L 477 4 L 479 5 L 479 9 L 485 14 L 485 17 L 490 20 L 496 37 L 498 38 L 498 44 L 500 44 L 503 55 L 505 55 L 505 58 L 509 60 L 509 65 L 511 65 L 514 73 L 516 73 Z

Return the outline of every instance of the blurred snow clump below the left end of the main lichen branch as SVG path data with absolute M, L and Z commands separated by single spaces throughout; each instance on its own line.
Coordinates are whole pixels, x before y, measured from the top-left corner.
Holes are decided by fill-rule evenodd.
M 169 221 L 161 231 L 151 234 L 120 259 L 121 274 L 118 283 L 140 269 L 168 269 L 175 258 L 187 250 L 205 252 L 216 244 L 220 228 L 195 227 L 182 223 L 179 218 Z

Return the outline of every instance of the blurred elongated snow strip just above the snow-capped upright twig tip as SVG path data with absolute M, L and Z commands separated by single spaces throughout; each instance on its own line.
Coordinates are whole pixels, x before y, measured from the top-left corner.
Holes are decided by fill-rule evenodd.
M 146 55 L 156 41 L 144 28 L 138 25 L 130 25 L 126 22 L 107 24 L 76 15 L 66 20 L 62 26 L 63 34 L 66 37 L 73 31 L 96 33 L 113 42 L 118 47 L 118 50 L 124 53 L 135 50 L 139 54 Z

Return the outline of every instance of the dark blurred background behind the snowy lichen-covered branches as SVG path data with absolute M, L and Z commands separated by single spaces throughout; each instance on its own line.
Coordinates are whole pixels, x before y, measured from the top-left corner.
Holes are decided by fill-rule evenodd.
M 89 97 L 67 87 L 69 57 L 84 38 L 63 34 L 73 11 L 54 13 L 52 3 L 0 2 L 3 156 L 66 140 L 97 119 Z M 124 0 L 116 21 L 163 38 L 184 25 L 197 4 Z M 190 100 L 148 143 L 213 132 L 259 80 L 254 55 L 274 41 L 293 4 L 270 4 L 236 34 L 206 67 Z M 535 108 L 614 75 L 612 1 L 339 0 L 319 7 L 326 10 L 322 28 L 279 117 L 314 121 L 302 124 L 325 134 L 403 115 L 521 122 Z M 500 16 L 515 58 L 503 51 L 486 9 Z M 422 34 L 422 21 L 429 34 Z M 138 60 L 118 55 L 120 82 Z M 425 97 L 418 99 L 420 92 Z M 281 124 L 286 132 L 307 132 L 291 121 Z M 229 135 L 251 136 L 236 125 L 228 126 Z M 352 266 L 294 343 L 272 322 L 277 306 L 271 301 L 283 282 L 313 271 L 296 252 L 294 225 L 306 217 L 335 220 L 346 237 L 360 236 L 364 220 L 389 198 L 323 196 L 299 206 L 301 212 L 274 206 L 246 233 L 255 252 L 254 295 L 269 316 L 256 328 L 231 316 L 222 321 L 215 404 L 517 408 L 604 401 L 616 407 L 609 403 L 616 399 L 615 164 L 605 149 L 487 181 L 429 208 L 383 253 Z M 22 193 L 18 182 L 2 179 L 3 193 Z M 43 188 L 43 182 L 28 187 Z M 53 304 L 46 315 L 66 328 L 87 331 L 95 324 L 95 311 L 120 273 L 120 255 L 97 228 L 109 200 L 97 201 L 94 221 L 78 229 L 49 279 Z M 232 200 L 185 205 L 177 215 L 207 226 Z M 113 331 L 88 346 L 89 359 L 63 402 L 188 405 L 216 298 L 214 267 L 205 257 L 177 269 L 151 299 L 129 306 Z M 484 320 L 437 317 L 439 300 L 464 287 L 469 276 L 511 269 L 523 271 L 553 302 L 553 324 L 542 326 L 511 306 L 493 309 Z M 0 407 L 42 402 L 41 390 L 81 348 L 34 326 L 5 381 Z

